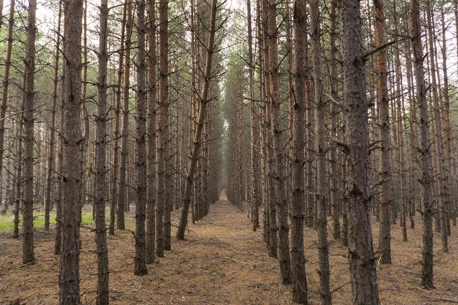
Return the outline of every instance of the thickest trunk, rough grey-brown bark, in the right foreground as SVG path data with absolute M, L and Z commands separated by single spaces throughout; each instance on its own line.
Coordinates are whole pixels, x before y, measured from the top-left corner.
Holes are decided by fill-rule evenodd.
M 337 0 L 344 79 L 345 167 L 350 281 L 353 304 L 380 304 L 372 249 L 369 131 L 360 3 Z

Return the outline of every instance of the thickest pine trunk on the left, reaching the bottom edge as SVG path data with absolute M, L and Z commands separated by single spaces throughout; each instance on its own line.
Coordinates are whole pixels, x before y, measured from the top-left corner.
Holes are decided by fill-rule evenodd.
M 80 303 L 79 236 L 81 180 L 81 31 L 82 1 L 65 2 L 65 78 L 63 84 L 62 141 L 62 249 L 60 252 L 59 305 Z

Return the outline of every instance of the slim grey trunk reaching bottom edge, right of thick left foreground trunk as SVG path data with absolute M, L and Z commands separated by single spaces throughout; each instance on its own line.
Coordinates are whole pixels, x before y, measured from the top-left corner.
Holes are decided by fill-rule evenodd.
M 95 135 L 94 207 L 95 237 L 97 242 L 97 305 L 108 305 L 108 249 L 105 227 L 106 136 L 107 136 L 107 0 L 100 1 L 100 28 L 98 43 L 97 116 Z

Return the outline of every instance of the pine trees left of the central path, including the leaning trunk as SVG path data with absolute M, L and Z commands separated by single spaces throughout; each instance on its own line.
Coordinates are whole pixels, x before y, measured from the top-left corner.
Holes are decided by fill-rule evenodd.
M 91 4 L 51 2 L 38 12 L 55 20 L 41 16 L 48 27 L 37 27 L 36 2 L 13 0 L 1 25 L 2 213 L 11 207 L 14 237 L 22 218 L 23 262 L 33 264 L 33 219 L 44 213 L 49 230 L 56 212 L 60 304 L 80 303 L 85 211 L 95 219 L 97 304 L 108 304 L 107 231 L 129 226 L 125 212 L 135 207 L 134 273 L 145 275 L 171 249 L 173 209 L 182 208 L 183 239 L 189 208 L 194 222 L 219 196 L 222 66 L 212 60 L 221 59 L 224 4 Z

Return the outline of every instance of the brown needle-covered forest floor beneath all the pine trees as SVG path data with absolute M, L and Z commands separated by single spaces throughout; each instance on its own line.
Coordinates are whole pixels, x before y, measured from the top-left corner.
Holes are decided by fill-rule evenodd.
M 128 230 L 108 237 L 110 304 L 294 304 L 291 286 L 279 285 L 278 259 L 269 257 L 262 229 L 252 232 L 250 219 L 232 205 L 224 193 L 210 206 L 207 217 L 190 223 L 186 240 L 172 240 L 172 250 L 148 265 L 144 277 L 133 275 L 134 240 Z M 127 213 L 127 227 L 135 218 Z M 174 211 L 176 225 L 179 212 Z M 262 217 L 261 217 L 262 218 Z M 408 230 L 402 241 L 399 225 L 392 226 L 392 265 L 377 266 L 382 304 L 458 303 L 458 228 L 452 227 L 450 253 L 440 252 L 440 236 L 434 244 L 436 289 L 419 287 L 421 270 L 421 223 Z M 378 240 L 378 224 L 373 223 Z M 174 230 L 173 230 L 174 231 Z M 97 264 L 94 233 L 81 229 L 80 293 L 82 304 L 95 304 Z M 11 238 L 11 230 L 0 232 L 0 304 L 21 299 L 21 304 L 57 304 L 59 256 L 53 254 L 54 231 L 36 229 L 35 265 L 22 264 L 22 241 Z M 330 242 L 329 265 L 334 304 L 351 304 L 347 250 Z M 320 304 L 316 232 L 305 230 L 305 256 L 309 303 Z

